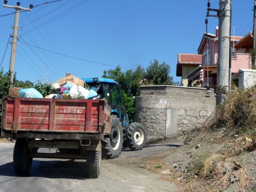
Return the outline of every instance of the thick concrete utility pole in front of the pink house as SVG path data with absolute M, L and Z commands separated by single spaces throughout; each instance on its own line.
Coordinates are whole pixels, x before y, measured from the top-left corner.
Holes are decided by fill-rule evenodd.
M 229 87 L 230 11 L 230 0 L 219 0 L 219 33 L 216 95 L 217 106 L 221 104 L 222 96 L 228 90 Z

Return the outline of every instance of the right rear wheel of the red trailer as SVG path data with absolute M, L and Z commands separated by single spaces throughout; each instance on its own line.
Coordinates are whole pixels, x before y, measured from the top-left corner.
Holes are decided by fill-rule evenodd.
M 100 151 L 87 151 L 86 177 L 96 179 L 101 172 L 102 149 Z

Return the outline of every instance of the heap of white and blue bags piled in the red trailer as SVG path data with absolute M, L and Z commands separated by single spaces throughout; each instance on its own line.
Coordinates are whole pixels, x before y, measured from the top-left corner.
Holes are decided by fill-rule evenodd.
M 88 99 L 95 98 L 97 93 L 94 90 L 91 90 L 89 87 L 84 88 L 75 83 L 66 83 L 62 87 L 60 87 L 60 83 L 53 83 L 52 85 L 52 94 L 45 96 L 45 98 L 80 98 L 80 99 Z M 34 89 L 20 89 L 19 97 L 22 98 L 44 98 L 42 94 Z

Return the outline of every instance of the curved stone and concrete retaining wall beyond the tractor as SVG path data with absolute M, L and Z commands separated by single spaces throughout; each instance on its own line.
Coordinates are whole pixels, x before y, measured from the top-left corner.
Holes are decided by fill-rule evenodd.
M 215 113 L 215 94 L 202 88 L 141 86 L 135 121 L 147 131 L 147 143 L 186 136 Z

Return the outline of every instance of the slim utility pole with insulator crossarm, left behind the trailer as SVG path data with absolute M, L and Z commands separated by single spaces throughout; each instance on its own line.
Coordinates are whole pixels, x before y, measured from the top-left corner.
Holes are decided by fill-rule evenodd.
M 13 83 L 14 78 L 14 64 L 15 64 L 15 55 L 16 55 L 16 45 L 17 45 L 17 39 L 18 39 L 18 30 L 19 28 L 19 10 L 25 10 L 25 11 L 32 11 L 33 5 L 30 4 L 30 8 L 23 8 L 20 7 L 20 2 L 17 2 L 16 6 L 7 5 L 7 0 L 4 0 L 4 7 L 6 8 L 13 8 L 15 9 L 15 19 L 14 19 L 14 26 L 11 26 L 13 28 L 13 34 L 12 34 L 12 42 L 11 42 L 11 58 L 10 58 L 10 66 L 9 71 L 11 72 L 11 83 Z

